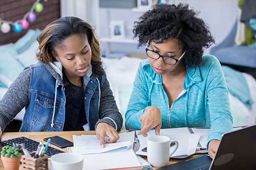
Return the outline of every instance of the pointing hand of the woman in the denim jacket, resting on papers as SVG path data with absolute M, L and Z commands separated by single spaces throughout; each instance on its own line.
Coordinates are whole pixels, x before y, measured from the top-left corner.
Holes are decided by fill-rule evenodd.
M 107 123 L 99 123 L 96 127 L 96 135 L 100 141 L 102 148 L 105 148 L 105 137 L 108 136 L 110 139 L 106 140 L 107 143 L 114 143 L 119 139 L 117 131 Z

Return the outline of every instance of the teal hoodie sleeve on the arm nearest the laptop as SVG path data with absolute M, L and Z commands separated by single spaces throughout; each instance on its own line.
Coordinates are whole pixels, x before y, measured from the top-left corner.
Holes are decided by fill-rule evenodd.
M 212 60 L 207 79 L 207 105 L 210 114 L 210 133 L 207 141 L 209 143 L 214 139 L 221 140 L 224 133 L 230 132 L 233 119 L 225 77 L 217 59 Z

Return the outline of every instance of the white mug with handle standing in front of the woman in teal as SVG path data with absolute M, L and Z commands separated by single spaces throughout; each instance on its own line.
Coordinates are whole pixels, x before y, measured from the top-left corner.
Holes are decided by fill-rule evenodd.
M 159 167 L 168 164 L 170 156 L 177 151 L 179 144 L 175 142 L 175 149 L 170 153 L 170 138 L 167 136 L 151 136 L 147 138 L 147 160 L 151 165 Z M 172 147 L 172 148 L 173 148 Z

